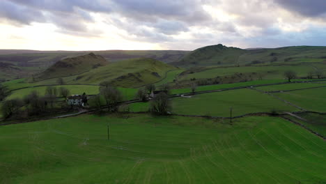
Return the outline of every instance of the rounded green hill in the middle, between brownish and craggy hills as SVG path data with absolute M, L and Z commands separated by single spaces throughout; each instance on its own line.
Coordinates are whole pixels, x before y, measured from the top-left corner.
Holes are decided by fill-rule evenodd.
M 155 59 L 128 59 L 96 68 L 76 77 L 69 77 L 72 83 L 99 84 L 109 81 L 114 86 L 135 87 L 160 81 L 169 70 L 176 70 Z

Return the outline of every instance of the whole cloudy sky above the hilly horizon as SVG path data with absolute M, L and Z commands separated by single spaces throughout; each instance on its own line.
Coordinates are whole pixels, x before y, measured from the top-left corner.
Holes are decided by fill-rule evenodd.
M 0 0 L 0 49 L 326 45 L 326 0 Z

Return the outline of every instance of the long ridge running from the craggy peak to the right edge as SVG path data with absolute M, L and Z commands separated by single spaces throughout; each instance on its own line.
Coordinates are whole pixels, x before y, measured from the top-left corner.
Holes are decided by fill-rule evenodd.
M 326 47 L 298 46 L 274 49 L 239 49 L 211 45 L 190 52 L 176 66 L 257 65 L 279 63 L 318 63 L 326 61 Z

